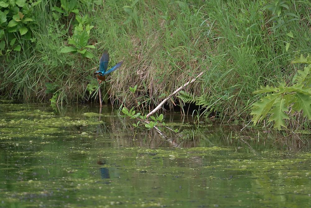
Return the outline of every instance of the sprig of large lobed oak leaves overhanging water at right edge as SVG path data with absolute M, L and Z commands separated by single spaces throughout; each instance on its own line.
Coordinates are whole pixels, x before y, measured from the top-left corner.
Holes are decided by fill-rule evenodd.
M 306 58 L 301 55 L 296 57 L 292 63 L 309 64 L 304 70 L 298 70 L 295 74 L 292 85 L 281 83 L 278 87 L 261 86 L 254 91 L 254 94 L 269 93 L 262 97 L 260 101 L 253 104 L 252 112 L 253 124 L 264 120 L 269 114 L 267 123 L 274 123 L 273 127 L 281 130 L 281 126 L 287 127 L 285 119 L 289 120 L 289 115 L 303 111 L 303 116 L 311 120 L 311 56 Z

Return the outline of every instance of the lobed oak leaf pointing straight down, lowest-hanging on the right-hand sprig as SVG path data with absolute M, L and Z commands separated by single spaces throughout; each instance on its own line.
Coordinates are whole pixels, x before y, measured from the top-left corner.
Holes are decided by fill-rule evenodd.
M 274 122 L 273 128 L 277 128 L 278 130 L 281 130 L 281 126 L 286 128 L 284 119 L 289 119 L 288 115 L 285 114 L 288 108 L 286 108 L 284 104 L 285 99 L 281 97 L 274 103 L 274 108 L 269 112 L 272 115 L 269 117 L 268 122 Z

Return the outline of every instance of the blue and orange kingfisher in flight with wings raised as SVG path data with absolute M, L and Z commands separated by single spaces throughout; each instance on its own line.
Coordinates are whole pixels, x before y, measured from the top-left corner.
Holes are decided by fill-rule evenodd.
M 106 71 L 108 67 L 108 62 L 109 62 L 109 53 L 107 51 L 104 51 L 100 58 L 99 70 L 94 72 L 94 74 L 97 77 L 97 80 L 99 80 L 99 83 L 105 81 L 106 75 L 110 74 L 114 70 L 117 70 L 123 64 L 123 61 L 120 61 L 119 63 L 111 67 L 111 69 Z

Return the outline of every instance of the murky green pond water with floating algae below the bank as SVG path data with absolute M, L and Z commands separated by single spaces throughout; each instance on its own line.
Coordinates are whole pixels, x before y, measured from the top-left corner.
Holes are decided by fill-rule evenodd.
M 311 206 L 308 135 L 175 113 L 165 122 L 183 139 L 164 139 L 110 106 L 98 113 L 1 100 L 0 207 Z

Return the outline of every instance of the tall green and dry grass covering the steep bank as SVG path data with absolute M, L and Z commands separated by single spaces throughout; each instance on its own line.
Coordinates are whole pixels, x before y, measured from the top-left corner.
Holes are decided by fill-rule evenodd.
M 116 106 L 136 105 L 136 98 L 149 110 L 204 71 L 186 91 L 193 97 L 203 96 L 202 105 L 213 107 L 223 118 L 247 119 L 250 104 L 258 99 L 252 92 L 260 85 L 290 80 L 297 71 L 290 60 L 310 52 L 308 1 L 286 2 L 289 9 L 280 14 L 285 23 L 274 30 L 277 22 L 269 19 L 275 15 L 264 10 L 268 3 L 264 0 L 80 3 L 80 13 L 88 14 L 95 26 L 90 33 L 95 57 L 60 53 L 70 36 L 69 20 L 51 12 L 56 1 L 42 1 L 35 8 L 37 22 L 32 25 L 36 41 L 24 45 L 20 53 L 1 57 L 1 95 L 47 100 L 52 97 L 45 93 L 49 82 L 59 103 L 96 100 L 87 85 L 94 80 L 91 69 L 98 66 L 105 49 L 110 53 L 110 65 L 124 60 L 105 84 Z M 131 9 L 125 11 L 126 5 Z M 286 12 L 297 14 L 298 20 L 285 16 Z M 286 35 L 289 31 L 293 38 Z M 134 85 L 137 92 L 132 94 L 128 89 Z M 178 98 L 174 102 L 182 104 Z M 171 101 L 169 106 L 173 105 Z

